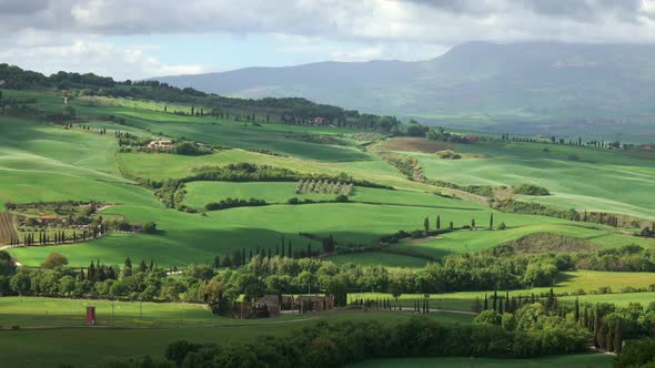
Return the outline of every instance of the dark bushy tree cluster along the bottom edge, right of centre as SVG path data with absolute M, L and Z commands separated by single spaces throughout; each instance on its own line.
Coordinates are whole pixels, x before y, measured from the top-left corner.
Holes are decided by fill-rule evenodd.
M 343 367 L 365 359 L 409 357 L 524 358 L 583 352 L 587 333 L 540 304 L 512 317 L 514 324 L 444 324 L 415 316 L 399 324 L 344 321 L 305 327 L 290 337 L 248 343 L 177 341 L 165 359 L 122 359 L 108 367 Z

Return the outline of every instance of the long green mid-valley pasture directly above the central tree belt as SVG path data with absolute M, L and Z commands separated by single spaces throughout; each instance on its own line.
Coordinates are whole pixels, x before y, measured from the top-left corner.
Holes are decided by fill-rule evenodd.
M 299 235 L 310 233 L 326 237 L 333 235 L 339 246 L 367 246 L 381 236 L 400 229 L 423 227 L 425 216 L 441 215 L 442 222 L 467 224 L 471 218 L 484 224 L 491 212 L 453 208 L 426 208 L 359 203 L 326 203 L 305 205 L 270 205 L 240 207 L 202 214 L 188 214 L 157 206 L 123 205 L 108 208 L 103 215 L 122 215 L 130 222 L 158 224 L 160 234 L 110 234 L 101 239 L 74 245 L 14 248 L 11 254 L 26 265 L 40 264 L 48 254 L 66 255 L 71 265 L 88 265 L 100 258 L 108 264 L 122 264 L 125 257 L 153 259 L 161 266 L 184 267 L 206 264 L 215 255 L 225 256 L 233 249 L 254 251 L 258 247 L 274 249 L 281 239 L 291 241 L 294 248 L 308 243 L 320 247 L 319 242 Z M 547 217 L 495 214 L 508 223 L 531 224 L 535 221 L 562 221 Z M 181 249 L 183 249 L 181 252 Z

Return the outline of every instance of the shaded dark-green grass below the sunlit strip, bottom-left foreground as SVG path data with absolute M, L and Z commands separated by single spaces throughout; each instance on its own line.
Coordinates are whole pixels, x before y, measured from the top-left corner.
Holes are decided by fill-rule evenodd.
M 66 308 L 68 303 L 70 300 L 61 300 L 62 308 Z M 82 315 L 79 317 L 83 318 Z M 300 319 L 285 317 L 243 321 L 230 319 L 229 324 L 222 323 L 222 326 L 218 324 L 216 327 L 8 330 L 0 331 L 0 345 L 3 347 L 2 362 L 11 367 L 43 367 L 59 362 L 73 364 L 75 367 L 88 367 L 103 359 L 99 357 L 111 357 L 112 355 L 121 357 L 143 355 L 161 357 L 169 344 L 181 339 L 194 343 L 248 340 L 262 335 L 291 335 L 302 327 L 322 319 L 334 321 L 375 319 L 381 323 L 393 324 L 411 317 L 411 314 L 389 311 L 347 311 L 293 317 Z M 462 324 L 472 321 L 472 317 L 457 314 L 432 314 L 431 317 L 442 321 Z M 222 318 L 222 320 L 225 319 Z M 108 347 L 111 347 L 111 349 L 108 350 Z

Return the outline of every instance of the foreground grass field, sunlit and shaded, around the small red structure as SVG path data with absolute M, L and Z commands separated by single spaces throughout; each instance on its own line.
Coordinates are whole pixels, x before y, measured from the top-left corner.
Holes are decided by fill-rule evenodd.
M 12 318 L 11 324 L 22 326 L 20 330 L 0 330 L 2 364 L 9 367 L 43 367 L 67 362 L 75 367 L 88 367 L 111 356 L 163 356 L 165 347 L 177 340 L 194 343 L 220 343 L 221 340 L 251 339 L 262 335 L 286 336 L 315 324 L 319 320 L 370 320 L 394 324 L 412 317 L 409 313 L 394 311 L 343 311 L 281 317 L 275 319 L 238 320 L 210 315 L 198 306 L 178 304 L 153 305 L 143 304 L 143 318 L 139 318 L 139 303 L 117 303 L 121 307 L 119 317 L 117 306 L 117 326 L 72 327 L 80 326 L 84 320 L 83 307 L 92 304 L 99 307 L 98 318 L 101 325 L 111 321 L 109 301 L 98 300 L 74 301 L 47 298 L 1 298 L 7 303 L 11 314 L 3 321 Z M 74 313 L 71 311 L 74 308 Z M 20 309 L 20 310 L 17 310 Z M 44 313 L 49 310 L 49 314 Z M 457 314 L 431 314 L 431 318 L 441 321 L 468 324 L 472 317 Z M 120 321 L 120 324 L 119 324 Z M 182 321 L 182 323 L 181 323 Z M 53 326 L 62 324 L 68 328 L 28 328 L 30 326 Z M 131 327 L 138 328 L 131 328 Z M 7 325 L 6 328 L 10 326 Z M 157 327 L 157 328 L 144 328 Z M 108 350 L 108 347 L 111 349 Z M 33 354 L 38 351 L 39 354 Z M 99 358 L 104 357 L 104 358 Z

